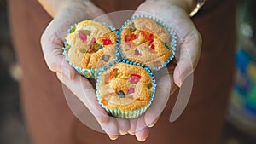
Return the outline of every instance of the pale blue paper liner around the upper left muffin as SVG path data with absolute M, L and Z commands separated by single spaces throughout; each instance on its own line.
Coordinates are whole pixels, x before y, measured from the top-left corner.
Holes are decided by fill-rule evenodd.
M 97 21 L 97 22 L 99 22 L 99 21 Z M 110 25 L 108 25 L 107 23 L 103 23 L 105 26 L 108 26 L 108 28 L 112 31 L 112 32 L 115 32 L 116 33 L 116 35 L 119 37 L 119 35 L 118 35 L 118 31 L 115 29 L 115 28 L 113 28 L 113 26 L 110 26 Z M 77 24 L 74 24 L 73 26 L 70 26 L 70 28 L 68 29 L 68 31 L 67 31 L 67 36 L 71 33 L 71 32 L 73 32 L 74 30 L 73 30 L 73 27 L 75 27 L 75 26 L 77 26 Z M 66 37 L 67 37 L 66 36 Z M 115 48 L 115 58 L 114 58 L 114 60 L 113 60 L 113 62 L 111 62 L 111 63 L 109 63 L 108 64 L 108 66 L 113 66 L 113 64 L 115 64 L 116 63 L 116 61 L 117 60 L 119 60 L 119 51 L 117 50 L 117 46 L 118 46 L 118 43 L 119 43 L 119 40 L 118 40 L 118 38 L 117 38 L 117 40 L 116 40 L 116 48 Z M 65 42 L 64 42 L 64 48 L 62 48 L 63 49 L 63 55 L 65 56 L 65 60 L 67 60 L 67 62 L 71 65 L 71 66 L 73 66 L 73 68 L 77 71 L 77 72 L 79 72 L 81 75 L 83 75 L 85 78 L 97 78 L 97 75 L 98 75 L 98 73 L 99 72 L 102 72 L 102 70 L 104 69 L 104 68 L 106 68 L 106 67 L 108 67 L 108 66 L 101 66 L 101 67 L 99 67 L 99 68 L 88 68 L 88 69 L 85 69 L 85 68 L 82 68 L 82 67 L 79 67 L 79 66 L 76 66 L 73 62 L 71 62 L 70 60 L 68 60 L 68 57 L 67 57 L 67 41 L 65 40 Z

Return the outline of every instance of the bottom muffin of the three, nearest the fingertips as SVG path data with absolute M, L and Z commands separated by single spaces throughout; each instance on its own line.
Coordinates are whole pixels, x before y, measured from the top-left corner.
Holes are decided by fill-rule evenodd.
M 114 117 L 137 118 L 150 106 L 155 87 L 148 67 L 123 60 L 99 75 L 96 95 L 102 107 Z

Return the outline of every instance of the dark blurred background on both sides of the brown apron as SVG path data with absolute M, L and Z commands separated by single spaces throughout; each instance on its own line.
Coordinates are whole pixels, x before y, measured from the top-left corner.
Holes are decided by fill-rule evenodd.
M 0 143 L 32 144 L 20 109 L 20 68 L 9 32 L 6 0 L 0 0 Z M 236 72 L 221 144 L 256 143 L 256 6 L 239 3 Z

